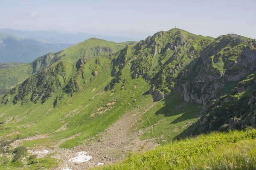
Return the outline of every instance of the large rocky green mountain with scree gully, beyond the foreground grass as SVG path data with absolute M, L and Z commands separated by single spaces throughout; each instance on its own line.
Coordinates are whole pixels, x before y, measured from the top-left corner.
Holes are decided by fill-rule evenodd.
M 255 66 L 251 39 L 173 28 L 138 43 L 89 39 L 12 67 L 31 75 L 1 99 L 3 167 L 27 167 L 24 156 L 47 149 L 38 166 L 61 159 L 59 168 L 89 168 L 186 136 L 253 126 Z M 18 146 L 28 151 L 13 161 Z M 80 151 L 93 159 L 70 162 Z

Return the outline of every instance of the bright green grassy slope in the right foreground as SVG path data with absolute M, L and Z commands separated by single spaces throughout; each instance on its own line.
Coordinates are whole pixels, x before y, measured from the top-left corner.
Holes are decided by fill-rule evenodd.
M 183 139 L 96 169 L 256 170 L 256 130 L 214 132 Z

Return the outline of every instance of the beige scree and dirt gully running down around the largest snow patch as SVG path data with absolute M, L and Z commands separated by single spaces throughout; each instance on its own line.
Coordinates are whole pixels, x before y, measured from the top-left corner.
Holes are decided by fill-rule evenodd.
M 91 138 L 85 141 L 87 144 L 69 150 L 58 148 L 58 153 L 62 153 L 58 156 L 64 161 L 64 163 L 58 167 L 58 170 L 63 170 L 63 168 L 67 167 L 72 170 L 83 170 L 98 166 L 99 162 L 112 164 L 123 159 L 123 157 L 125 157 L 131 150 L 135 151 L 142 148 L 144 148 L 143 150 L 147 150 L 156 147 L 158 144 L 156 144 L 154 140 L 140 141 L 139 135 L 141 132 L 134 132 L 137 121 L 141 119 L 141 116 L 145 112 L 156 104 L 157 102 L 154 102 L 143 109 L 134 108 L 132 111 L 125 113 L 116 123 L 100 133 L 97 138 Z M 100 141 L 97 139 L 100 139 Z M 87 155 L 90 155 L 93 158 L 84 163 L 73 163 L 68 161 L 70 158 L 76 157 L 76 153 L 80 151 L 86 151 Z

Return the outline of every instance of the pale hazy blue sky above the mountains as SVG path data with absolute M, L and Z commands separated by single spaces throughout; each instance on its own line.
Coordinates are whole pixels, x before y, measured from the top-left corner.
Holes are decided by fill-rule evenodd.
M 154 34 L 175 26 L 193 34 L 256 38 L 256 0 L 0 0 L 0 28 Z

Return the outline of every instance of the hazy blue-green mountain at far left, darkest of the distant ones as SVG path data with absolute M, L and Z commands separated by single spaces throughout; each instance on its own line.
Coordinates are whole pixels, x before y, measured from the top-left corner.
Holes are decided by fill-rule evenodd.
M 32 62 L 49 52 L 57 52 L 72 44 L 55 44 L 52 42 L 24 39 L 0 32 L 0 63 Z

